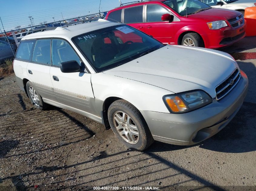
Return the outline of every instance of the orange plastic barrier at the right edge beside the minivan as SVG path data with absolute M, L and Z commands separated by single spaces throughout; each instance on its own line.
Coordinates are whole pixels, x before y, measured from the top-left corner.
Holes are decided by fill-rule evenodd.
M 244 11 L 247 22 L 246 36 L 256 36 L 256 7 L 247 7 Z

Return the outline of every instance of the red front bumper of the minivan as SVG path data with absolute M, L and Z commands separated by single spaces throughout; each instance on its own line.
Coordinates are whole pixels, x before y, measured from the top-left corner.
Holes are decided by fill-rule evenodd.
M 210 34 L 202 35 L 205 42 L 205 48 L 216 49 L 232 45 L 246 36 L 246 27 L 247 24 L 244 20 L 244 24 L 238 28 L 229 26 L 219 30 L 211 30 Z

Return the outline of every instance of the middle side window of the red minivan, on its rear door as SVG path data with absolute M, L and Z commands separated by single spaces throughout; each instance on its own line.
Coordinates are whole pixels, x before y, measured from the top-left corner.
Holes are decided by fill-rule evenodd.
M 125 9 L 125 23 L 142 23 L 143 5 Z

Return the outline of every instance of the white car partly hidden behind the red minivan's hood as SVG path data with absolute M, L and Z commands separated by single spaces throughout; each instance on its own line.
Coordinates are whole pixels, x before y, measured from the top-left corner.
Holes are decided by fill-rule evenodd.
M 247 7 L 255 7 L 256 0 L 200 0 L 201 2 L 213 7 L 232 9 L 241 12 L 244 15 L 244 10 Z

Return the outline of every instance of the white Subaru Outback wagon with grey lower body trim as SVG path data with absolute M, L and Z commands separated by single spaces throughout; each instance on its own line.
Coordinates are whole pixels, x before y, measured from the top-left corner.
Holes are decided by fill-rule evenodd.
M 128 148 L 193 145 L 240 109 L 248 78 L 227 53 L 163 45 L 101 20 L 25 36 L 17 83 L 41 110 L 54 105 L 111 127 Z

